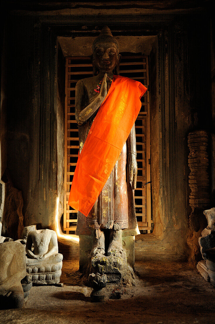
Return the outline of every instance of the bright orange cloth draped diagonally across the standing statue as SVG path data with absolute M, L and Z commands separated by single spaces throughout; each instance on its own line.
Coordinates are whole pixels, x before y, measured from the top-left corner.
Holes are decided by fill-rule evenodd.
M 83 145 L 75 168 L 68 204 L 87 216 L 122 151 L 147 88 L 114 75 Z

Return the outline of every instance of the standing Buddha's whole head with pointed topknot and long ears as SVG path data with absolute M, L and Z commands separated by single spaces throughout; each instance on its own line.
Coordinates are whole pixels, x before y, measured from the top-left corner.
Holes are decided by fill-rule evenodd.
M 119 43 L 113 37 L 110 29 L 107 26 L 102 28 L 102 31 L 92 44 L 93 57 L 93 75 L 98 72 L 112 72 L 119 74 Z

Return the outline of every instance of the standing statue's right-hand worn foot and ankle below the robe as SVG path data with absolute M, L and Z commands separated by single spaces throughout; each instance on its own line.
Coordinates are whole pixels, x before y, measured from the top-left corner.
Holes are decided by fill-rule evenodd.
M 118 257 L 123 254 L 122 230 L 118 223 L 113 225 L 107 255 Z

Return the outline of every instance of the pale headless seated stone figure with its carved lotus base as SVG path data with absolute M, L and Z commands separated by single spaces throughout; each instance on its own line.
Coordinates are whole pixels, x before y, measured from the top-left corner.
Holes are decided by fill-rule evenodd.
M 55 231 L 40 229 L 30 231 L 26 243 L 27 273 L 34 284 L 60 282 L 63 255 L 58 253 Z

